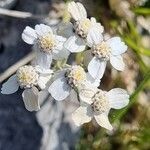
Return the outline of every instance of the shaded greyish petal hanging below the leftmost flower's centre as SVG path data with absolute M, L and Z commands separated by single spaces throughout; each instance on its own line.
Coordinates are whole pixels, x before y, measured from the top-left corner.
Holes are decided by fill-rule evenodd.
M 38 100 L 38 89 L 36 87 L 32 87 L 31 89 L 25 89 L 22 93 L 22 97 L 25 108 L 28 111 L 38 111 L 40 109 Z

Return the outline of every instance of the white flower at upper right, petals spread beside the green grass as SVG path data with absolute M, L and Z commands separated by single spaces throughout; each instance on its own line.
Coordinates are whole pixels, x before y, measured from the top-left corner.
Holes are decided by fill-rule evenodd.
M 87 36 L 87 43 L 93 54 L 88 65 L 88 71 L 93 78 L 102 78 L 108 60 L 115 69 L 124 70 L 125 64 L 121 54 L 127 51 L 127 46 L 120 37 L 104 40 L 100 32 L 92 30 Z

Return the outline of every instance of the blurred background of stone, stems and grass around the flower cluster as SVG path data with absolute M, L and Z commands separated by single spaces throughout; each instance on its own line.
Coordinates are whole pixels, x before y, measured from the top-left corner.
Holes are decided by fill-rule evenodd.
M 0 0 L 0 87 L 18 66 L 32 59 L 32 47 L 21 39 L 23 29 L 69 21 L 68 0 Z M 47 101 L 37 113 L 28 112 L 21 93 L 0 94 L 0 150 L 149 150 L 150 149 L 150 1 L 80 0 L 88 16 L 105 27 L 108 38 L 121 36 L 128 45 L 125 71 L 108 66 L 101 88 L 121 87 L 130 103 L 112 110 L 113 132 L 92 121 L 82 128 L 68 114 L 76 104 Z M 82 55 L 76 57 L 82 61 Z M 78 62 L 78 63 L 79 63 Z M 85 62 L 86 63 L 86 62 Z M 69 99 L 69 98 L 68 98 Z M 68 109 L 66 109 L 66 107 Z

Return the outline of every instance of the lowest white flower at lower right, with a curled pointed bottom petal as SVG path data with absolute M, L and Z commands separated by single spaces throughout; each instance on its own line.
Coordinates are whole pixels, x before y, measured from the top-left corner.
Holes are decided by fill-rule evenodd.
M 95 118 L 96 122 L 108 129 L 113 127 L 109 122 L 108 113 L 111 108 L 121 109 L 129 103 L 128 93 L 120 88 L 115 88 L 109 92 L 100 89 L 91 90 L 90 93 L 80 92 L 80 107 L 73 112 L 72 119 L 77 126 L 90 122 Z

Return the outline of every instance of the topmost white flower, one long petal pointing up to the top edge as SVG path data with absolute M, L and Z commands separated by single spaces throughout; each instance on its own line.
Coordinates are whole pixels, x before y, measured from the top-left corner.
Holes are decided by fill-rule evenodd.
M 72 53 L 84 51 L 89 31 L 95 28 L 102 33 L 104 28 L 100 23 L 96 22 L 95 18 L 87 18 L 87 12 L 84 6 L 79 2 L 70 2 L 68 4 L 68 11 L 75 21 L 75 23 L 70 26 L 70 29 L 74 30 L 74 33 L 72 32 L 72 35 L 65 42 L 64 47 Z

